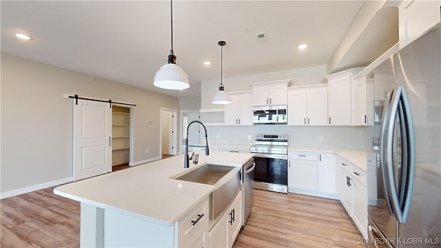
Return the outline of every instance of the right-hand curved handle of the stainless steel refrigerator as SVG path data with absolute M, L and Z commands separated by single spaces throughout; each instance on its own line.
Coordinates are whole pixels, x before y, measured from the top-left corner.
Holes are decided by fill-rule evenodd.
M 415 179 L 415 169 L 416 169 L 416 158 L 415 158 L 415 134 L 413 130 L 413 121 L 411 114 L 411 107 L 409 105 L 409 98 L 407 97 L 406 88 L 401 87 L 401 97 L 400 102 L 402 105 L 402 130 L 405 131 L 405 138 L 403 141 L 403 173 L 402 178 L 402 189 L 400 192 L 400 203 L 402 209 L 402 222 L 407 222 L 407 217 L 409 216 L 409 211 L 411 209 L 412 195 L 413 195 L 413 183 Z

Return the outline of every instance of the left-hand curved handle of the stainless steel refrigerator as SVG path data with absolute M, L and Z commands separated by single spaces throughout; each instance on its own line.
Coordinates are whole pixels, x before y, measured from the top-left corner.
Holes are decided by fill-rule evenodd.
M 381 125 L 381 141 L 380 141 L 380 145 L 381 145 L 381 149 L 380 149 L 380 167 L 381 167 L 381 172 L 382 172 L 382 186 L 384 189 L 384 198 L 385 201 L 387 203 L 387 209 L 389 210 L 389 214 L 391 214 L 391 216 L 395 216 L 395 212 L 393 211 L 391 205 L 391 189 L 389 188 L 389 183 L 387 183 L 387 181 L 389 180 L 389 176 L 388 175 L 388 170 L 387 170 L 387 158 L 389 156 L 392 156 L 392 151 L 390 149 L 387 149 L 387 143 L 389 143 L 389 130 L 388 130 L 388 126 L 390 122 L 393 122 L 394 119 L 391 116 L 391 102 L 393 99 L 393 96 L 395 96 L 396 94 L 396 90 L 393 89 L 390 92 L 388 92 L 387 94 L 387 101 L 386 104 L 384 106 L 384 111 L 382 113 L 382 125 Z M 392 133 L 393 134 L 393 130 Z M 391 139 L 391 138 L 390 138 Z M 390 154 L 390 155 L 389 155 Z

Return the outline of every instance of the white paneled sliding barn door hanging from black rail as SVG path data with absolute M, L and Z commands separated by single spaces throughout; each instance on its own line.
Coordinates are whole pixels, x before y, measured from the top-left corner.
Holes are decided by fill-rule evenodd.
M 109 103 L 74 101 L 74 180 L 112 172 Z

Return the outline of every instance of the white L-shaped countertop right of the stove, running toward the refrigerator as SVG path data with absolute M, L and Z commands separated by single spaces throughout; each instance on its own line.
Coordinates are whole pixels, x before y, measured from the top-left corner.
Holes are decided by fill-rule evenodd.
M 303 152 L 327 152 L 336 154 L 349 163 L 356 165 L 363 171 L 367 171 L 367 155 L 373 154 L 373 152 L 362 149 L 340 149 L 340 148 L 328 148 L 328 147 L 288 147 L 289 151 L 303 151 Z

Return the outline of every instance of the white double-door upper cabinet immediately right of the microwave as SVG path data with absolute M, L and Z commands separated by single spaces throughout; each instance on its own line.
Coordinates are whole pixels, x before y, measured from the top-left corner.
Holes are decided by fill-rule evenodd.
M 327 125 L 327 85 L 288 89 L 288 125 Z

